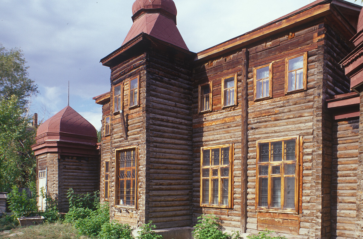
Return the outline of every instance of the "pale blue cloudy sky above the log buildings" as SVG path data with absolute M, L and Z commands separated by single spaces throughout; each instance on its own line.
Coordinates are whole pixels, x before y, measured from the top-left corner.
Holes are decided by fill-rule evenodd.
M 199 52 L 290 13 L 309 0 L 174 0 L 178 29 Z M 349 0 L 353 3 L 354 0 Z M 356 1 L 360 4 L 360 0 Z M 67 105 L 101 127 L 93 96 L 110 90 L 99 60 L 119 48 L 131 28 L 134 0 L 0 0 L 0 43 L 19 47 L 40 94 L 32 111 L 46 120 Z

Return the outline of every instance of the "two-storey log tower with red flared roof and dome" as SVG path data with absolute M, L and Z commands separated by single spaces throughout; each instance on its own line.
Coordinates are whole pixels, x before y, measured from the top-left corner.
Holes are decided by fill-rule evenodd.
M 174 1 L 136 0 L 132 13 L 122 46 L 101 59 L 111 70 L 109 100 L 95 98 L 103 105 L 101 194 L 109 192 L 110 216 L 121 223 L 188 227 L 195 53 L 176 28 Z

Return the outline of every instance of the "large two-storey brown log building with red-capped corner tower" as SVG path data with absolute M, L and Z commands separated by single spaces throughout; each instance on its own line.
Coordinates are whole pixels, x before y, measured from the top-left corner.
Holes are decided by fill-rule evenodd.
M 192 53 L 172 0 L 136 0 L 101 59 L 110 92 L 94 97 L 111 218 L 187 230 L 214 214 L 252 234 L 362 238 L 360 9 L 314 1 Z

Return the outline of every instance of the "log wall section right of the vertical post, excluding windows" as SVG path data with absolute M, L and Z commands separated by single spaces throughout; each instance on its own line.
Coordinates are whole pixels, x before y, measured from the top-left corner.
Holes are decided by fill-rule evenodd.
M 293 34 L 292 34 L 293 33 Z M 321 164 L 321 147 L 317 147 L 315 138 L 321 135 L 321 122 L 316 118 L 316 111 L 322 108 L 322 90 L 317 87 L 318 79 L 323 78 L 323 71 L 318 62 L 323 61 L 319 45 L 323 36 L 319 35 L 319 24 L 296 29 L 295 32 L 271 37 L 266 42 L 249 48 L 248 75 L 248 232 L 257 233 L 264 227 L 274 231 L 287 232 L 289 238 L 299 234 L 298 238 L 314 235 L 315 227 L 320 228 L 317 204 L 321 198 L 317 188 L 321 187 L 317 165 Z M 293 37 L 291 37 L 293 36 Z M 285 59 L 307 52 L 307 90 L 285 95 Z M 273 62 L 273 99 L 254 101 L 253 67 Z M 320 67 L 320 68 L 319 68 Z M 321 82 L 320 82 L 321 84 Z M 299 202 L 303 214 L 256 212 L 256 140 L 268 140 L 278 137 L 303 136 L 302 202 Z M 318 212 L 318 213 L 317 213 Z M 319 233 L 318 233 L 319 234 Z

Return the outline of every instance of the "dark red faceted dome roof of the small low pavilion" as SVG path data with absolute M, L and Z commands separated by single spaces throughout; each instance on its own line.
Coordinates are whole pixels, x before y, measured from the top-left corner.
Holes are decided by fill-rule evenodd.
M 37 130 L 37 136 L 50 132 L 64 132 L 97 137 L 95 127 L 70 106 L 65 107 L 42 123 Z

